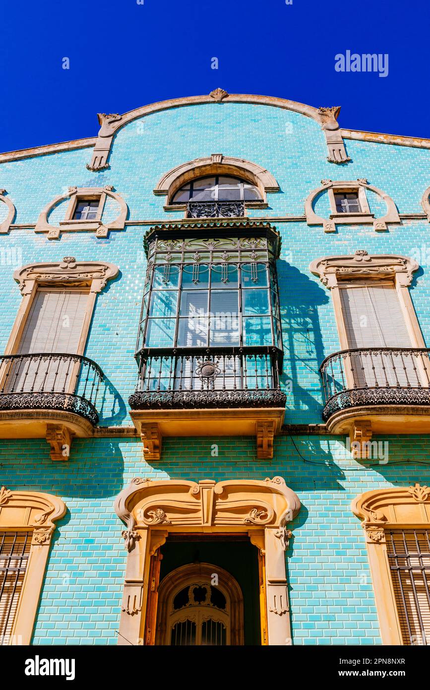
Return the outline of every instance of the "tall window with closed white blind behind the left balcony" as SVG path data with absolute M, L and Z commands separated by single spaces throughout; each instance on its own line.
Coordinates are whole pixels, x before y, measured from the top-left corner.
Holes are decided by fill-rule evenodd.
M 74 362 L 46 355 L 77 353 L 87 305 L 85 290 L 37 291 L 8 371 L 8 391 L 67 391 Z

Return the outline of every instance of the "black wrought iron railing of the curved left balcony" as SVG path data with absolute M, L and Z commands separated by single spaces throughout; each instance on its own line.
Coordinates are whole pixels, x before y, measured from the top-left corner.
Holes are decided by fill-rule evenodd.
M 0 356 L 0 411 L 62 410 L 99 422 L 101 368 L 87 357 L 63 353 Z

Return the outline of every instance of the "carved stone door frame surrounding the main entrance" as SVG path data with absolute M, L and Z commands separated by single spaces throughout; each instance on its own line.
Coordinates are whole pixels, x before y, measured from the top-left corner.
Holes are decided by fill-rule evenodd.
M 168 535 L 218 533 L 248 535 L 258 548 L 263 644 L 291 644 L 285 550 L 292 535 L 287 525 L 299 510 L 283 477 L 198 483 L 135 477 L 115 502 L 129 552 L 118 643 L 154 644 L 163 593 L 163 586 L 157 591 L 159 547 Z

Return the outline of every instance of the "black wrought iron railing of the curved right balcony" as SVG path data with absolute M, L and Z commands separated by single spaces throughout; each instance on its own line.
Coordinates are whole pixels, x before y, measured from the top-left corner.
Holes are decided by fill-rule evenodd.
M 320 366 L 323 418 L 363 405 L 430 405 L 429 348 L 342 350 Z

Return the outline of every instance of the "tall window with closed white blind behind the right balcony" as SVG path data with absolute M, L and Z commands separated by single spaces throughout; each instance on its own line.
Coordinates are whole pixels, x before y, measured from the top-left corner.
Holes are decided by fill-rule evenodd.
M 355 385 L 424 385 L 422 363 L 402 352 L 413 344 L 393 283 L 356 282 L 340 286 L 339 292 L 348 346 L 360 349 L 350 355 Z

